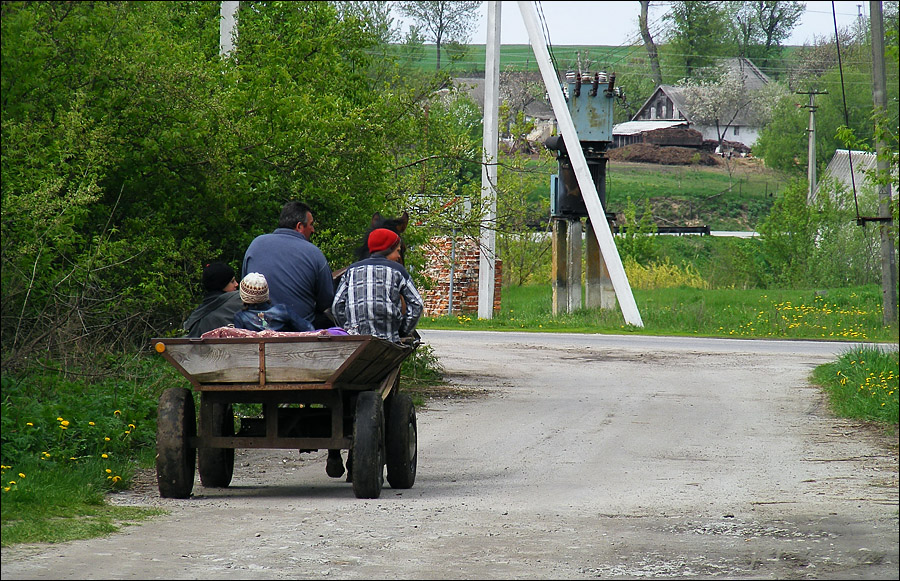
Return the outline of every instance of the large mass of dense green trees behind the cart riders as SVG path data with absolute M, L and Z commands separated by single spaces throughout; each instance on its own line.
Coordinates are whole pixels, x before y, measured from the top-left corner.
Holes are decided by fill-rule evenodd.
M 331 3 L 241 3 L 227 59 L 216 3 L 2 10 L 4 370 L 179 333 L 201 265 L 239 266 L 289 199 L 342 265 L 375 211 L 477 182 L 477 107 Z

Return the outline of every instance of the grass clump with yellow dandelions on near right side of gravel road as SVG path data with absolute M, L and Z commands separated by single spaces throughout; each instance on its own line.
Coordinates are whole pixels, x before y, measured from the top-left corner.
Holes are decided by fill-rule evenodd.
M 896 350 L 848 349 L 837 361 L 816 367 L 813 379 L 828 392 L 839 416 L 897 424 L 900 369 Z

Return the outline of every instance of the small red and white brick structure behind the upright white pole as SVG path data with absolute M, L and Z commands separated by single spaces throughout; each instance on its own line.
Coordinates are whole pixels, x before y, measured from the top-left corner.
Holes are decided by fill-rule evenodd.
M 432 238 L 422 246 L 425 253 L 423 274 L 431 281 L 431 288 L 423 289 L 425 314 L 446 315 L 450 294 L 450 257 L 455 257 L 453 268 L 453 314 L 478 313 L 478 268 L 481 252 L 478 242 L 471 238 L 457 238 L 456 248 L 450 236 Z M 494 268 L 494 311 L 500 310 L 502 264 L 496 261 Z

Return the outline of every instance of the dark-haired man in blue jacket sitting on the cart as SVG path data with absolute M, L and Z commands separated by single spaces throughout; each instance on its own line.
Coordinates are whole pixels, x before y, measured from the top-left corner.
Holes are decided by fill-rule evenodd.
M 242 272 L 258 272 L 269 283 L 269 296 L 309 321 L 316 329 L 334 326 L 326 313 L 334 300 L 328 260 L 310 242 L 315 232 L 312 210 L 291 201 L 281 209 L 278 228 L 257 236 L 244 253 Z

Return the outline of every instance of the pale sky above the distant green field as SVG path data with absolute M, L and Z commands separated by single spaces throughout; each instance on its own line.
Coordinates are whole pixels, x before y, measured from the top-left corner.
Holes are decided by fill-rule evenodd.
M 530 3 L 532 6 L 534 3 Z M 800 23 L 794 28 L 793 35 L 785 44 L 811 44 L 813 37 L 834 37 L 834 20 L 832 19 L 832 2 L 805 2 L 806 11 Z M 637 0 L 619 2 L 540 2 L 547 28 L 550 31 L 550 43 L 553 45 L 604 45 L 630 46 L 640 44 L 638 16 L 641 13 Z M 861 8 L 860 8 L 861 7 Z M 838 28 L 845 28 L 856 20 L 859 11 L 869 15 L 869 2 L 834 2 Z M 650 6 L 650 31 L 656 39 L 654 31 L 662 26 L 662 17 L 668 11 L 668 2 L 654 2 Z M 472 36 L 472 44 L 485 44 L 487 41 L 487 2 L 483 2 L 478 19 L 478 27 Z M 540 15 L 540 13 L 538 13 Z M 510 0 L 501 2 L 500 7 L 500 42 L 501 44 L 528 44 L 528 32 L 519 13 L 519 3 Z

